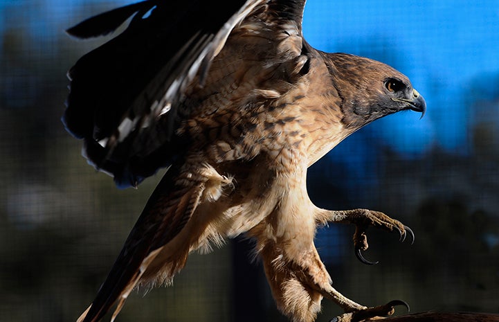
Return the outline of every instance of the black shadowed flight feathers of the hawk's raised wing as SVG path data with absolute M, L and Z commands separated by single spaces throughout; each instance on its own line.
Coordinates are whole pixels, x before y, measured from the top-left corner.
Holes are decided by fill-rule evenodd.
M 119 186 L 136 186 L 171 163 L 186 87 L 203 85 L 230 31 L 262 2 L 146 0 L 70 28 L 76 37 L 105 35 L 134 15 L 123 33 L 69 71 L 63 122 L 84 138 L 87 159 Z

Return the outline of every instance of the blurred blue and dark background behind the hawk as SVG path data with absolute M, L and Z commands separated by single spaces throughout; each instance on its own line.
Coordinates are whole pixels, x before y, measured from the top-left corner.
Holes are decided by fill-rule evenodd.
M 118 190 L 60 122 L 66 71 L 109 39 L 64 30 L 125 3 L 0 1 L 0 321 L 75 321 L 161 178 Z M 309 0 L 304 33 L 394 66 L 428 105 L 421 120 L 368 125 L 310 168 L 318 206 L 383 211 L 416 234 L 411 246 L 370 230 L 365 257 L 379 264 L 368 267 L 354 227 L 320 229 L 334 287 L 365 305 L 499 313 L 499 2 Z M 237 238 L 191 256 L 172 287 L 134 292 L 117 321 L 286 321 L 250 253 Z M 340 313 L 323 301 L 318 321 Z

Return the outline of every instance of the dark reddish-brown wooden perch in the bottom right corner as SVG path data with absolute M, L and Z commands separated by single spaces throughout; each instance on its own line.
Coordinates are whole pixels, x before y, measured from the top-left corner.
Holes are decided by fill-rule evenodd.
M 383 320 L 369 319 L 376 322 L 499 322 L 499 314 L 489 313 L 442 313 L 420 312 L 401 316 L 392 316 Z

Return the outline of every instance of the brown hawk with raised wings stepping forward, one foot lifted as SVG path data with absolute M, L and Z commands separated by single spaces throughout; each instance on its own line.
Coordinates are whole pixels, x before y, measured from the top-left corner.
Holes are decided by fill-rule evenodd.
M 368 123 L 424 113 L 408 78 L 381 62 L 324 53 L 302 37 L 305 0 L 146 0 L 70 28 L 79 38 L 129 25 L 69 71 L 66 129 L 118 186 L 167 167 L 96 298 L 78 321 L 120 312 L 138 285 L 169 283 L 192 251 L 246 234 L 256 241 L 279 310 L 316 319 L 323 298 L 338 321 L 391 314 L 343 296 L 314 235 L 328 222 L 412 231 L 366 209 L 330 211 L 307 195 L 307 168 Z

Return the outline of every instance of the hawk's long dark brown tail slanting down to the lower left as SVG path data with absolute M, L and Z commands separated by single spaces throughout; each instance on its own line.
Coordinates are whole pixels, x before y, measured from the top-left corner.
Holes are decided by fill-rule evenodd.
M 111 318 L 114 321 L 163 245 L 170 242 L 192 217 L 204 189 L 203 183 L 183 181 L 183 186 L 179 186 L 172 180 L 174 171 L 170 170 L 149 198 L 95 300 L 77 322 L 99 321 L 118 301 Z M 152 275 L 158 274 L 161 272 Z M 151 272 L 147 275 L 151 276 Z

